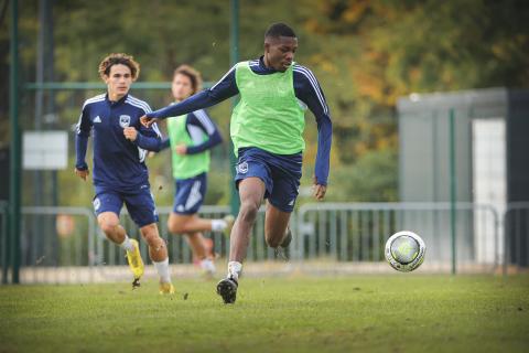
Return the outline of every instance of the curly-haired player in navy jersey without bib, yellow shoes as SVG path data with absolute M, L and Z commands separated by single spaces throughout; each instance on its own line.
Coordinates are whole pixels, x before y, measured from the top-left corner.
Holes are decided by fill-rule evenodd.
M 107 84 L 107 93 L 87 99 L 83 105 L 75 138 L 75 173 L 86 181 L 86 149 L 90 131 L 94 131 L 94 210 L 97 222 L 107 238 L 127 252 L 134 276 L 133 286 L 139 285 L 143 275 L 139 244 L 129 238 L 119 224 L 125 203 L 149 245 L 149 256 L 160 275 L 160 293 L 173 293 L 168 249 L 158 232 L 158 214 L 144 163 L 145 150 L 160 150 L 161 135 L 156 125 L 145 128 L 140 124 L 140 117 L 151 109 L 143 100 L 129 95 L 139 73 L 140 65 L 127 54 L 110 54 L 99 64 L 99 75 Z

